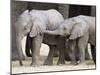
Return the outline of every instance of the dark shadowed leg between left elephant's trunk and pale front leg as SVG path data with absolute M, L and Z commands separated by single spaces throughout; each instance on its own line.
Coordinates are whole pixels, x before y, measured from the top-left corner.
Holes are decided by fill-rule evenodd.
M 26 56 L 28 57 L 32 57 L 32 54 L 30 52 L 31 48 L 32 48 L 32 38 L 29 37 L 29 35 L 27 35 L 25 53 L 26 53 Z

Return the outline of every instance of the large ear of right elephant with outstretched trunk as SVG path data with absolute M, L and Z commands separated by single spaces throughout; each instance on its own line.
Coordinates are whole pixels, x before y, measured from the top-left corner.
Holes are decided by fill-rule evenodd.
M 88 26 L 85 21 L 76 21 L 72 27 L 71 35 L 69 37 L 70 40 L 77 39 L 86 34 L 88 30 Z

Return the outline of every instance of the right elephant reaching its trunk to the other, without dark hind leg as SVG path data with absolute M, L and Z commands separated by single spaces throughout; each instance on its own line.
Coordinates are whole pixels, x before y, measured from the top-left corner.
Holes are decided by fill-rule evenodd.
M 80 63 L 85 62 L 85 49 L 88 43 L 95 46 L 95 17 L 79 15 L 66 19 L 58 29 L 54 31 L 46 30 L 46 34 L 61 35 L 66 37 L 69 46 L 69 56 L 71 63 L 76 64 L 75 47 L 79 50 Z M 77 45 L 77 46 L 76 46 Z

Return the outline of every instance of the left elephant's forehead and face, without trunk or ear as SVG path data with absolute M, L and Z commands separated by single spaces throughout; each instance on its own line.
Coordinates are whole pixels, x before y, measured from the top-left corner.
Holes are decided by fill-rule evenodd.
M 15 22 L 15 29 L 17 35 L 25 36 L 30 32 L 32 26 L 32 20 L 31 16 L 29 14 L 29 11 L 24 11 Z

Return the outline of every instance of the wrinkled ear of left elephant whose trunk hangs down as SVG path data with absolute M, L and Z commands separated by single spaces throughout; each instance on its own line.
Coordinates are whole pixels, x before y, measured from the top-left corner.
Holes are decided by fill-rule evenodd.
M 31 31 L 29 33 L 30 37 L 35 37 L 38 34 L 43 33 L 44 30 L 46 29 L 45 23 L 43 23 L 42 21 L 40 21 L 38 19 L 32 21 L 32 24 L 33 25 L 32 25 Z

